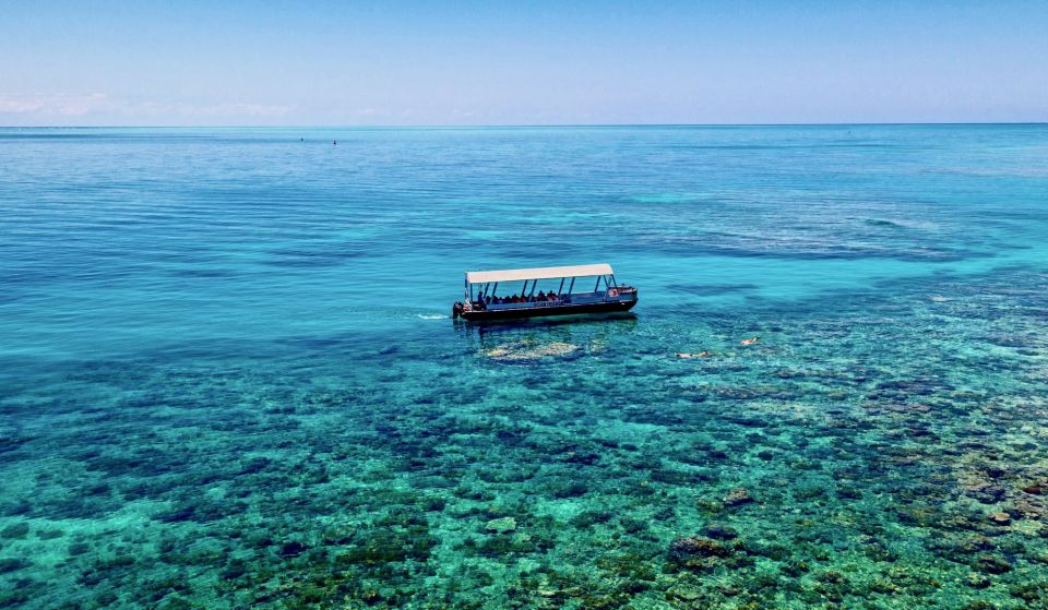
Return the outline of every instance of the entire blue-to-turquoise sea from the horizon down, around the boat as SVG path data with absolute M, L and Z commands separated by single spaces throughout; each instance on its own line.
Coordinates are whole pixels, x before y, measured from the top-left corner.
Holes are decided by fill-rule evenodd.
M 1048 125 L 0 129 L 0 608 L 1048 608 Z

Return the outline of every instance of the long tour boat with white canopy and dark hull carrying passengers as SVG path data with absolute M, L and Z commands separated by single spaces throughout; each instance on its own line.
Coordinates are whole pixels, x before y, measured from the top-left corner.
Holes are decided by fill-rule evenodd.
M 517 282 L 522 288 L 510 289 Z M 539 280 L 547 289 L 536 292 Z M 552 282 L 550 282 L 552 280 Z M 553 284 L 560 280 L 558 287 Z M 593 288 L 590 288 L 593 282 Z M 513 284 L 511 284 L 513 283 Z M 499 291 L 499 285 L 502 291 Z M 577 284 L 577 285 L 576 285 Z M 452 306 L 451 316 L 468 321 L 614 313 L 633 309 L 636 288 L 619 284 L 611 265 L 573 265 L 466 272 L 463 300 Z

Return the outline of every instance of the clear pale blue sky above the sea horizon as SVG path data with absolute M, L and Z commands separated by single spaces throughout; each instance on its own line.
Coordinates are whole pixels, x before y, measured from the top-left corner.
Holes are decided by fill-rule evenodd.
M 1048 1 L 10 2 L 0 124 L 1048 121 Z

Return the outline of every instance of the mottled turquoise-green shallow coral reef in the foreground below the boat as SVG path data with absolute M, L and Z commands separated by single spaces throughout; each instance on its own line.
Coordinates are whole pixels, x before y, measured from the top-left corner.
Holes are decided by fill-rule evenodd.
M 8 375 L 0 607 L 1048 608 L 1046 323 L 1015 267 Z

